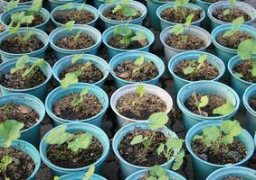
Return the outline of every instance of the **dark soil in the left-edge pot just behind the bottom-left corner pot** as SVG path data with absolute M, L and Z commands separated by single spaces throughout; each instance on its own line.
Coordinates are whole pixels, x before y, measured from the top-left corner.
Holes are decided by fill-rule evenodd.
M 0 123 L 4 123 L 6 120 L 23 122 L 24 129 L 28 129 L 39 120 L 39 115 L 30 107 L 7 103 L 0 106 Z

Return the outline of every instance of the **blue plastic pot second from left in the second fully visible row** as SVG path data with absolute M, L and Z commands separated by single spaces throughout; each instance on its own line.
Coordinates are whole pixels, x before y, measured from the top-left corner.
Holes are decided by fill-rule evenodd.
M 61 39 L 62 37 L 72 35 L 77 31 L 82 30 L 83 33 L 88 34 L 93 40 L 94 40 L 94 45 L 92 45 L 89 48 L 86 49 L 62 49 L 58 46 L 56 46 L 56 41 Z M 97 51 L 100 47 L 101 43 L 101 33 L 97 29 L 89 26 L 89 25 L 74 25 L 74 28 L 72 31 L 67 31 L 63 28 L 57 28 L 53 30 L 50 35 L 49 35 L 49 40 L 52 49 L 54 49 L 56 57 L 58 59 L 63 58 L 68 55 L 74 55 L 74 54 L 97 54 Z

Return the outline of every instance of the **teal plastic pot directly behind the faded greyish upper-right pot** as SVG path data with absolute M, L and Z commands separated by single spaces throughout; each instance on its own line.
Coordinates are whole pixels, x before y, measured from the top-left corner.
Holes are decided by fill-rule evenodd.
M 165 19 L 163 19 L 161 17 L 161 14 L 163 11 L 165 11 L 166 9 L 168 8 L 174 8 L 175 7 L 175 4 L 174 3 L 168 3 L 168 4 L 162 4 L 160 7 L 157 8 L 156 10 L 156 15 L 158 17 L 158 19 L 160 20 L 160 26 L 161 26 L 161 30 L 165 30 L 167 27 L 169 26 L 173 26 L 177 23 L 173 23 L 173 22 L 169 22 L 169 21 L 166 21 Z M 186 4 L 185 7 L 187 8 L 190 8 L 190 9 L 193 9 L 193 10 L 198 10 L 198 9 L 202 9 L 200 6 L 198 5 L 195 5 L 195 4 Z M 205 17 L 205 12 L 204 10 L 202 9 L 202 13 L 201 13 L 201 18 L 200 20 L 196 21 L 196 22 L 193 22 L 191 23 L 192 25 L 195 25 L 195 26 L 201 26 L 201 22 L 204 20 L 204 17 Z

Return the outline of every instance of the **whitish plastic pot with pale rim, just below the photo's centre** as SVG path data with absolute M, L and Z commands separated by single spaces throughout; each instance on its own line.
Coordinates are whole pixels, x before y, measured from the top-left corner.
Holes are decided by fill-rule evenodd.
M 133 119 L 127 118 L 121 115 L 116 108 L 119 98 L 124 96 L 125 94 L 135 93 L 137 85 L 139 84 L 125 85 L 119 88 L 114 94 L 112 94 L 110 98 L 110 106 L 117 115 L 119 127 L 123 127 L 128 123 L 132 123 L 132 122 L 147 121 L 147 120 L 133 120 Z M 166 114 L 172 110 L 173 100 L 170 94 L 168 94 L 164 89 L 156 85 L 148 85 L 148 84 L 143 84 L 143 85 L 145 86 L 145 93 L 156 94 L 166 103 Z

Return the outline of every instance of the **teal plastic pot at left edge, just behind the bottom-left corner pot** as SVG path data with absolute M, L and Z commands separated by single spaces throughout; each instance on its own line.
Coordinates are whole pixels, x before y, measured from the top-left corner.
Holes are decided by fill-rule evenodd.
M 42 101 L 30 94 L 6 94 L 0 96 L 0 106 L 7 103 L 21 104 L 33 109 L 39 116 L 38 121 L 28 129 L 21 131 L 20 139 L 23 139 L 33 146 L 38 147 L 40 143 L 40 127 L 45 115 L 45 108 Z

